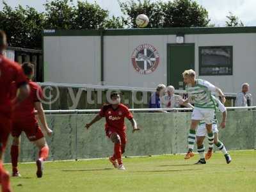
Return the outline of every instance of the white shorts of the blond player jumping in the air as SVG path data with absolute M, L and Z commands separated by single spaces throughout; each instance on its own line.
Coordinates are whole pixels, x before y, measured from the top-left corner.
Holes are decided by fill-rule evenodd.
M 204 120 L 206 124 L 212 124 L 214 109 L 194 108 L 191 120 Z

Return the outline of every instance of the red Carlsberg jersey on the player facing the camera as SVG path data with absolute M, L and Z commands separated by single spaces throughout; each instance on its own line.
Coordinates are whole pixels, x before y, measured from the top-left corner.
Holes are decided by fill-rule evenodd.
M 133 118 L 132 113 L 129 111 L 127 106 L 124 104 L 119 104 L 116 109 L 113 109 L 111 104 L 103 106 L 99 112 L 100 116 L 105 116 L 106 124 L 105 127 L 115 128 L 119 131 L 125 131 L 126 127 L 124 124 L 124 118 L 131 120 Z

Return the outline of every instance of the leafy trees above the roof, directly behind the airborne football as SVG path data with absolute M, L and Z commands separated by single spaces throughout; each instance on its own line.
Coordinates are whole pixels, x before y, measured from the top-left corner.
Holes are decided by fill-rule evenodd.
M 122 12 L 128 16 L 129 25 L 137 28 L 137 15 L 144 13 L 150 20 L 148 28 L 184 28 L 206 27 L 210 19 L 208 12 L 195 1 L 174 0 L 167 2 L 152 2 L 150 0 L 131 0 L 121 3 Z

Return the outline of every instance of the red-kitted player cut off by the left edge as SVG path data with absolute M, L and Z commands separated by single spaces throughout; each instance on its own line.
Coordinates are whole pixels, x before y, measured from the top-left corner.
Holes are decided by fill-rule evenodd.
M 3 56 L 6 48 L 6 35 L 0 31 L 0 184 L 2 192 L 10 192 L 10 177 L 3 168 L 3 153 L 11 131 L 12 110 L 29 95 L 29 86 L 19 64 Z M 15 99 L 11 100 L 11 84 L 19 89 Z

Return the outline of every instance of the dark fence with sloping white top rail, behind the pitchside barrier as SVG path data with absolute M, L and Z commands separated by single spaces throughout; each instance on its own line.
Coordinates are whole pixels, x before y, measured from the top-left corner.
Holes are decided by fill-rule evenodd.
M 148 108 L 150 96 L 155 88 L 127 86 L 102 86 L 97 84 L 39 83 L 45 95 L 45 109 L 99 109 L 106 102 L 106 93 L 118 90 L 123 93 L 122 102 L 129 108 Z M 184 90 L 175 90 L 175 94 L 186 96 Z M 236 93 L 225 93 L 227 106 L 234 106 Z

